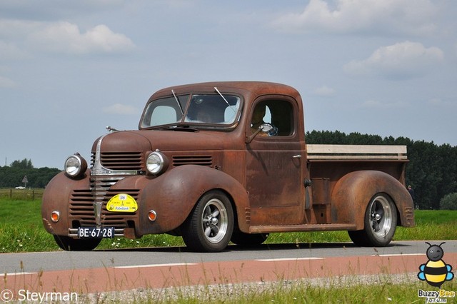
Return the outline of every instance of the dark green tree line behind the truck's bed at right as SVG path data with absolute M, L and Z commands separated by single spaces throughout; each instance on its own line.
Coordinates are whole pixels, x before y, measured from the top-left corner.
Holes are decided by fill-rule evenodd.
M 441 198 L 457 193 L 457 146 L 412 141 L 409 138 L 340 131 L 307 131 L 306 143 L 344 145 L 406 145 L 406 185 L 413 188 L 415 203 L 421 209 L 439 209 Z

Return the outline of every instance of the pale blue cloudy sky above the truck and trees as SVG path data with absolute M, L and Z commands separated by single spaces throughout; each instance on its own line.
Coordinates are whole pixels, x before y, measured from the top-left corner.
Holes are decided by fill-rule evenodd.
M 88 161 L 160 88 L 273 81 L 307 131 L 457 146 L 453 0 L 1 0 L 0 166 Z

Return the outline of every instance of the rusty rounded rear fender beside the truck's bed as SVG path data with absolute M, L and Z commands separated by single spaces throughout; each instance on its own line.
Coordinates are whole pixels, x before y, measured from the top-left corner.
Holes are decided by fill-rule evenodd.
M 369 201 L 376 193 L 386 193 L 398 211 L 398 225 L 414 226 L 413 200 L 406 188 L 381 171 L 354 171 L 340 178 L 331 193 L 333 223 L 354 223 L 363 229 L 363 217 Z

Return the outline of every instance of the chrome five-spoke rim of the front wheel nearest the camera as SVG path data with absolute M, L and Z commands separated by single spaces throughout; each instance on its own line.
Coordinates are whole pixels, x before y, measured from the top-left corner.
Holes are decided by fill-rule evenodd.
M 224 203 L 212 198 L 204 207 L 201 223 L 206 240 L 210 243 L 219 243 L 227 233 L 229 217 Z

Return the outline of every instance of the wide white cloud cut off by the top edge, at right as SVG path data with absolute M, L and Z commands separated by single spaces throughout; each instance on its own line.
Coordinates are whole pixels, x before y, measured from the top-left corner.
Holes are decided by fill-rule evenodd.
M 278 17 L 272 26 L 291 32 L 351 33 L 377 31 L 413 35 L 431 34 L 436 7 L 430 0 L 311 0 L 301 13 Z

